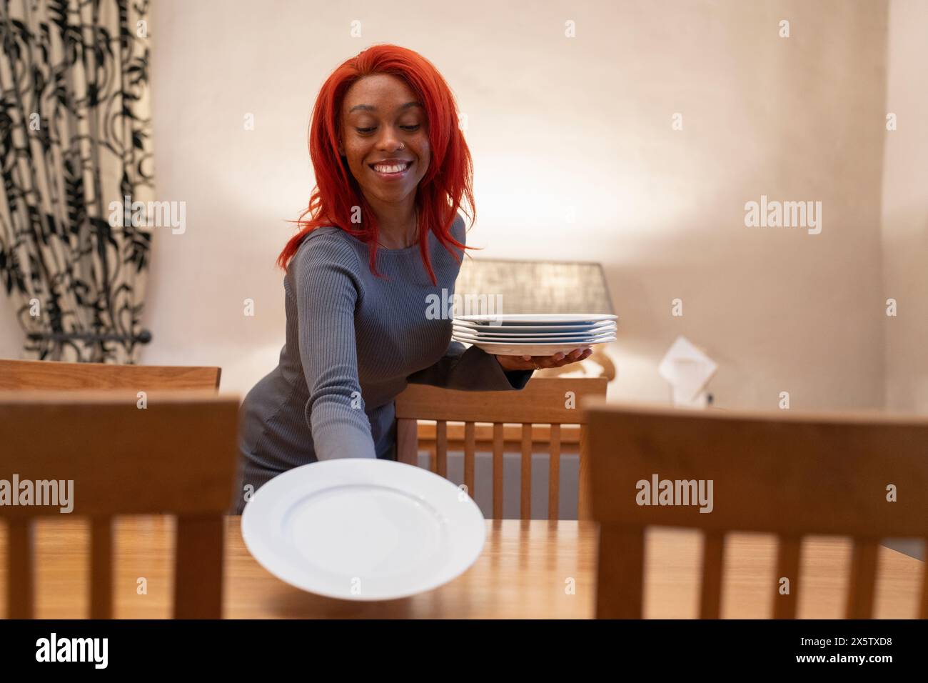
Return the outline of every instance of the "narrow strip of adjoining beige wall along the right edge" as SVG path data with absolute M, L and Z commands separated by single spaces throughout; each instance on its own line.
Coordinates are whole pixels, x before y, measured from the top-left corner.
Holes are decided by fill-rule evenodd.
M 894 0 L 889 12 L 886 111 L 897 128 L 883 156 L 886 407 L 928 412 L 928 3 Z M 913 30 L 917 29 L 917 30 Z

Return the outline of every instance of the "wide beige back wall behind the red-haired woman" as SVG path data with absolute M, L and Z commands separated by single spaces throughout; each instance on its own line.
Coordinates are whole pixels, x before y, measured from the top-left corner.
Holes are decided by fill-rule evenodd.
M 158 193 L 187 202 L 188 225 L 155 238 L 143 361 L 219 364 L 223 387 L 240 392 L 274 367 L 284 315 L 273 261 L 312 187 L 317 88 L 342 59 L 389 41 L 432 59 L 468 116 L 469 243 L 488 257 L 604 264 L 621 318 L 613 397 L 668 400 L 656 367 L 682 334 L 718 361 L 719 405 L 772 408 L 780 391 L 795 409 L 882 405 L 886 3 L 340 6 L 154 7 Z M 744 227 L 745 202 L 762 194 L 822 202 L 821 234 Z

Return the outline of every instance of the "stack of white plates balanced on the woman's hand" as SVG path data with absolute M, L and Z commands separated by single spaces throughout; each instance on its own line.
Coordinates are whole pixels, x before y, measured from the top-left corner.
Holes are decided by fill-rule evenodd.
M 500 313 L 455 316 L 452 338 L 503 356 L 553 356 L 615 341 L 616 316 Z

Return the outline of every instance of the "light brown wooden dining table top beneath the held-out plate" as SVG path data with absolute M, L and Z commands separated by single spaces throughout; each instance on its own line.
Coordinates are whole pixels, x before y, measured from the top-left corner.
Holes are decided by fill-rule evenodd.
M 225 615 L 230 618 L 451 617 L 588 618 L 593 615 L 597 527 L 591 522 L 489 520 L 483 554 L 455 581 L 412 598 L 353 602 L 321 598 L 278 580 L 251 557 L 240 518 L 226 518 Z M 89 528 L 81 519 L 36 524 L 38 618 L 83 618 L 88 611 Z M 118 518 L 114 613 L 165 618 L 171 613 L 174 519 Z M 645 612 L 696 615 L 702 540 L 677 529 L 647 534 Z M 6 527 L 0 523 L 0 613 L 6 614 Z M 840 618 L 850 545 L 810 538 L 803 545 L 799 616 Z M 723 618 L 766 618 L 776 597 L 776 542 L 729 534 Z M 914 618 L 922 562 L 881 547 L 875 616 Z M 144 592 L 143 592 L 144 587 Z

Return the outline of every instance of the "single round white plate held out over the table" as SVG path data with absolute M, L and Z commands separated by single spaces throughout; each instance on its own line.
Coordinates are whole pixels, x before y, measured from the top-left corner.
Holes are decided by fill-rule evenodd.
M 268 481 L 241 516 L 249 552 L 290 585 L 329 598 L 389 600 L 466 571 L 486 529 L 467 493 L 393 460 L 343 458 Z

